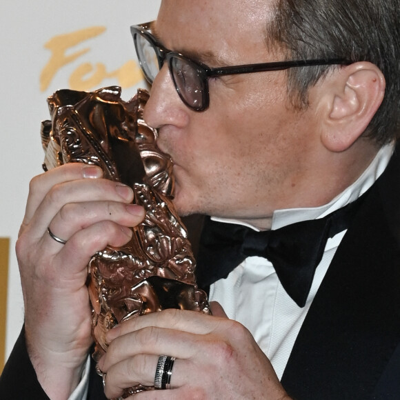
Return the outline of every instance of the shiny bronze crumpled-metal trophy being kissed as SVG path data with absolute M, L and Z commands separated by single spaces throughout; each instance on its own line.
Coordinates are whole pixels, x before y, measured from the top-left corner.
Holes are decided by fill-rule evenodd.
M 132 317 L 166 308 L 210 313 L 197 288 L 186 228 L 174 210 L 172 160 L 157 148 L 157 130 L 143 121 L 146 90 L 128 102 L 121 88 L 59 90 L 48 98 L 51 121 L 42 122 L 43 168 L 83 162 L 133 188 L 146 217 L 122 248 L 108 246 L 88 265 L 94 360 L 106 352 L 106 332 Z M 128 388 L 123 398 L 152 387 Z

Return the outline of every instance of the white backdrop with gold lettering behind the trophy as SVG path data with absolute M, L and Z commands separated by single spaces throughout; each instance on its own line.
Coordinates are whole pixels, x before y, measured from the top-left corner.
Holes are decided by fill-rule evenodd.
M 18 0 L 0 5 L 0 237 L 10 237 L 6 354 L 23 323 L 14 254 L 28 184 L 42 172 L 40 122 L 59 88 L 123 87 L 129 99 L 144 83 L 129 27 L 157 16 L 160 0 Z M 47 44 L 46 44 L 47 43 Z

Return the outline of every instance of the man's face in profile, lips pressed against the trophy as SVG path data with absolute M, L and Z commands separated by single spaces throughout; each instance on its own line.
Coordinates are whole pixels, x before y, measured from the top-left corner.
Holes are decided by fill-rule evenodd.
M 281 61 L 266 49 L 270 17 L 270 1 L 163 0 L 155 32 L 166 48 L 210 67 Z M 209 86 L 208 110 L 190 110 L 164 65 L 146 106 L 159 147 L 174 161 L 175 206 L 181 214 L 268 220 L 305 184 L 310 111 L 292 109 L 283 71 L 210 78 Z

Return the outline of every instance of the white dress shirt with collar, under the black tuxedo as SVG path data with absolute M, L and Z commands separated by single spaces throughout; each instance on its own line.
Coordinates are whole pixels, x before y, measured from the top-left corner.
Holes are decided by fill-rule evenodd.
M 361 177 L 325 206 L 275 211 L 272 217 L 272 229 L 307 219 L 325 217 L 326 214 L 356 200 L 385 170 L 393 149 L 394 145 L 381 148 Z M 226 223 L 241 223 L 235 220 L 213 219 Z M 220 279 L 210 287 L 210 301 L 221 303 L 230 319 L 239 321 L 250 330 L 261 350 L 270 359 L 279 379 L 286 367 L 301 324 L 345 233 L 346 231 L 340 232 L 332 239 L 328 239 L 312 281 L 306 306 L 303 308 L 297 306 L 288 296 L 279 282 L 272 263 L 262 257 L 248 257 L 230 272 L 226 279 Z M 68 400 L 86 399 L 89 361 L 88 358 L 81 383 Z

